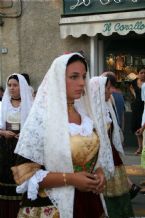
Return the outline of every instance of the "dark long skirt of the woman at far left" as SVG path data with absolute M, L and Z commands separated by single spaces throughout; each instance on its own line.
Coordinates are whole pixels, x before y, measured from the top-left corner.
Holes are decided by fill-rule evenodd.
M 16 218 L 22 198 L 16 193 L 11 171 L 11 167 L 15 165 L 16 143 L 16 138 L 0 137 L 0 218 Z

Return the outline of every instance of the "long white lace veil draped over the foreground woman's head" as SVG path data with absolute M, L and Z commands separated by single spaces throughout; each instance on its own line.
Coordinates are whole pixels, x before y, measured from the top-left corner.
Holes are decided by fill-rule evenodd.
M 53 61 L 38 89 L 15 150 L 15 153 L 44 165 L 49 172 L 73 172 L 65 72 L 67 62 L 74 54 L 65 54 Z M 87 102 L 89 114 L 87 88 L 85 91 L 84 104 Z M 74 187 L 47 189 L 47 194 L 61 218 L 73 218 Z

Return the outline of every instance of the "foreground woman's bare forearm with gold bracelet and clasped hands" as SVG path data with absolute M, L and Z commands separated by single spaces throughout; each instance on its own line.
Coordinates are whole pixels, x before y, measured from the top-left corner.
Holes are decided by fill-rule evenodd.
M 94 174 L 85 171 L 75 173 L 49 172 L 39 183 L 45 188 L 56 188 L 62 186 L 74 186 L 83 192 L 100 193 L 104 190 L 105 176 L 103 170 L 98 168 Z

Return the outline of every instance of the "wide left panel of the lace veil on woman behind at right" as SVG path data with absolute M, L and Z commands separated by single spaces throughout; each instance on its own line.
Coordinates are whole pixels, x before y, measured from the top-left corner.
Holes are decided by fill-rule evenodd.
M 110 177 L 114 173 L 114 162 L 106 125 L 105 83 L 105 77 L 93 77 L 89 88 L 95 126 L 100 137 L 98 164 L 104 169 L 106 176 Z

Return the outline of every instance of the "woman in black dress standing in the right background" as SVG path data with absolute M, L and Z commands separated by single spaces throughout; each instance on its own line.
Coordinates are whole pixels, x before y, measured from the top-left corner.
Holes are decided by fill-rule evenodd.
M 132 95 L 132 118 L 131 118 L 131 125 L 132 125 L 132 132 L 136 134 L 138 149 L 136 150 L 135 154 L 141 154 L 142 152 L 142 134 L 136 133 L 136 131 L 141 127 L 142 122 L 142 114 L 144 109 L 144 102 L 141 99 L 141 86 L 145 82 L 145 69 L 140 68 L 138 69 L 138 77 L 131 82 L 130 85 L 130 92 Z

